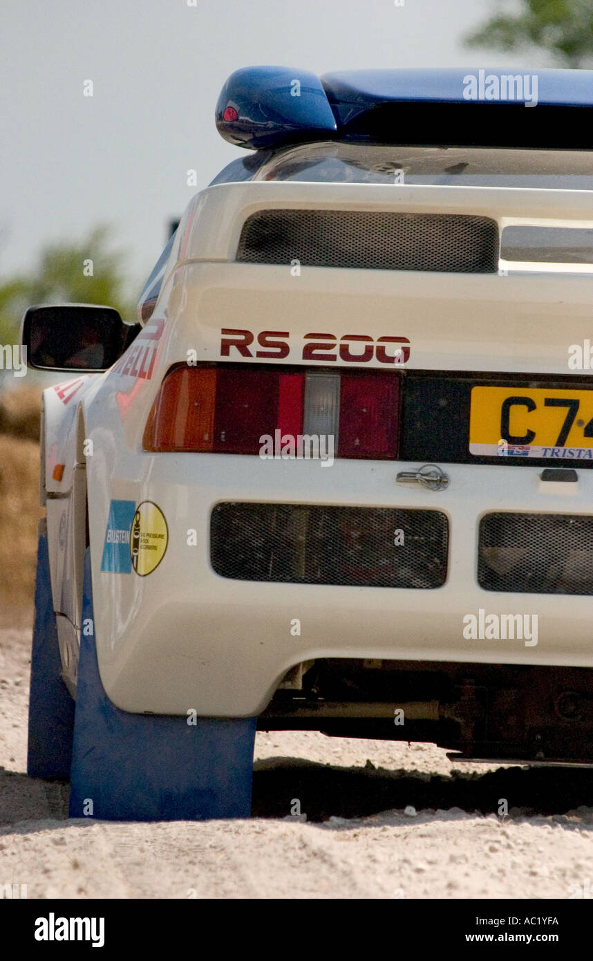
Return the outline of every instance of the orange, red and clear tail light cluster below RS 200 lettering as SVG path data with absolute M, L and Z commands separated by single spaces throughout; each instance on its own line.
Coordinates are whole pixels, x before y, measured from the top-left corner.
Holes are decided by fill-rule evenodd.
M 161 384 L 143 447 L 254 455 L 267 435 L 280 455 L 292 438 L 298 451 L 298 438 L 305 435 L 331 437 L 334 456 L 394 459 L 399 400 L 400 379 L 391 371 L 184 364 Z

